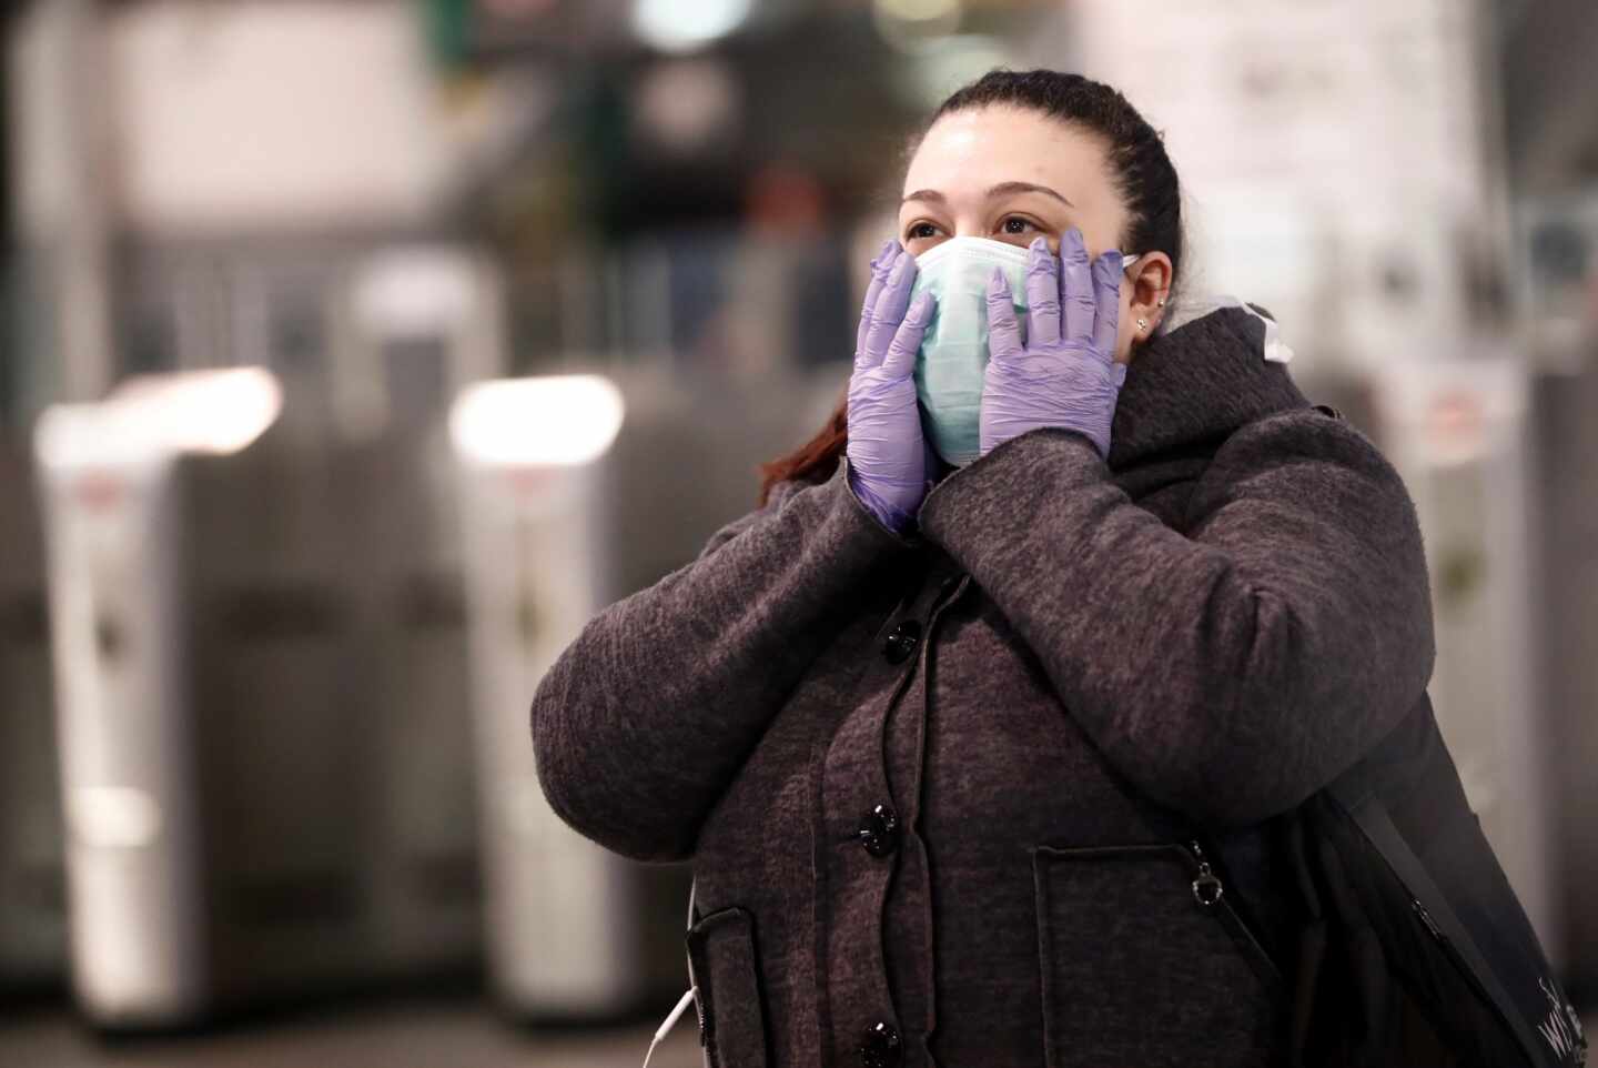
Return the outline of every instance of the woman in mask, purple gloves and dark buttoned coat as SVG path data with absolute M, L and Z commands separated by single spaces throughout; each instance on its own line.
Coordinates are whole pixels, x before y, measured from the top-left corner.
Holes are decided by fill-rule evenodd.
M 714 1063 L 1278 1063 L 1270 820 L 1424 695 L 1414 507 L 1264 318 L 1155 331 L 1178 181 L 1114 90 L 989 74 L 904 193 L 847 403 L 551 668 L 543 790 L 694 859 Z

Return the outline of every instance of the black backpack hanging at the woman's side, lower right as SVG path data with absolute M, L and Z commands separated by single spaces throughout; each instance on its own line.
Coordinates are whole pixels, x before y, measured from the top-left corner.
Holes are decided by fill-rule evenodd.
M 1302 907 L 1294 1068 L 1585 1063 L 1430 699 L 1278 828 Z

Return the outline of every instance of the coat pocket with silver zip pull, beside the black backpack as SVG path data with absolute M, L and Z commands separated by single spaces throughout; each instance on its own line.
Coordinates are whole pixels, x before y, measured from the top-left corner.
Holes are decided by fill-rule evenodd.
M 1032 875 L 1048 1068 L 1275 1063 L 1282 980 L 1192 851 L 1039 846 Z

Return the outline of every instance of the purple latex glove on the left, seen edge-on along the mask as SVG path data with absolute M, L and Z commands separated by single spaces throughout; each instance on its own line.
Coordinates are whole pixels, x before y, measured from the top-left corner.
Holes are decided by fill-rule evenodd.
M 916 257 L 890 240 L 871 261 L 849 379 L 850 486 L 884 526 L 900 532 L 914 524 L 936 470 L 920 433 L 914 379 L 920 336 L 936 302 L 924 293 L 911 307 L 912 285 Z

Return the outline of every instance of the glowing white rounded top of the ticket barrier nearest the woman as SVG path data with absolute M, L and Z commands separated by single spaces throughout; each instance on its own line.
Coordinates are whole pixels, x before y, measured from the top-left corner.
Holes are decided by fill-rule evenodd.
M 622 430 L 622 392 L 598 374 L 551 374 L 468 385 L 449 411 L 467 460 L 494 467 L 588 464 Z

